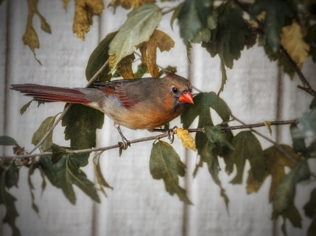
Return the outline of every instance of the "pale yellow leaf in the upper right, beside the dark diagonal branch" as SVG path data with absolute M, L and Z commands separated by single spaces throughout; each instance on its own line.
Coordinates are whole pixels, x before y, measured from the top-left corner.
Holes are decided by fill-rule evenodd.
M 301 26 L 296 21 L 293 21 L 292 25 L 282 28 L 281 45 L 300 69 L 310 50 L 310 46 L 304 42 L 303 38 Z

